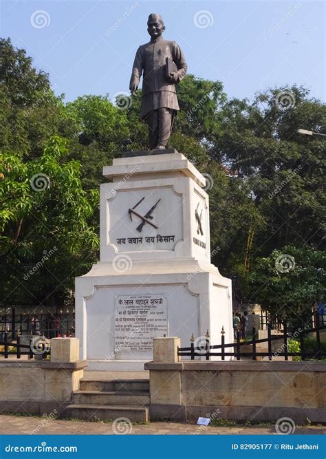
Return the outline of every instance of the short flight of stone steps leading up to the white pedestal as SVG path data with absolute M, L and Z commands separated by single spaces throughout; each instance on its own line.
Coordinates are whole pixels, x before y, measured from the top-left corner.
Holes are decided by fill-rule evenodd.
M 128 418 L 134 422 L 149 420 L 149 380 L 117 379 L 91 381 L 81 379 L 72 394 L 69 416 L 85 420 Z

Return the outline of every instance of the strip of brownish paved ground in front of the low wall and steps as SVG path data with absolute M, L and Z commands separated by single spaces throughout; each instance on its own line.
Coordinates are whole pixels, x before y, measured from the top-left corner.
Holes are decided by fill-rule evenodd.
M 111 435 L 116 433 L 114 423 L 87 422 L 82 420 L 47 419 L 34 416 L 0 415 L 0 435 L 4 434 L 78 434 L 78 435 Z M 201 427 L 195 423 L 162 423 L 152 422 L 148 425 L 124 425 L 122 431 L 135 434 L 151 435 L 194 435 L 194 434 L 275 434 L 274 425 L 248 426 L 235 425 L 230 427 Z M 317 427 L 296 427 L 295 434 L 326 434 L 326 429 Z

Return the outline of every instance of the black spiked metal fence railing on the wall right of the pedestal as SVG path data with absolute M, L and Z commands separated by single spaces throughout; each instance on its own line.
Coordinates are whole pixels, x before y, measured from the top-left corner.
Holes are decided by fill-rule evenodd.
M 226 357 L 234 357 L 237 360 L 241 360 L 242 357 L 249 357 L 252 360 L 257 360 L 257 357 L 268 357 L 272 360 L 273 356 L 284 357 L 285 361 L 291 357 L 300 357 L 301 360 L 309 359 L 322 359 L 326 356 L 325 350 L 320 343 L 320 331 L 326 330 L 326 325 L 321 325 L 316 328 L 310 328 L 309 330 L 296 331 L 294 334 L 287 332 L 287 322 L 283 321 L 283 332 L 281 334 L 272 334 L 272 328 L 270 323 L 268 324 L 268 337 L 264 339 L 257 339 L 257 330 L 252 328 L 252 338 L 250 340 L 240 339 L 240 332 L 237 332 L 237 339 L 233 343 L 225 343 L 224 328 L 221 330 L 221 344 L 211 345 L 208 332 L 206 338 L 202 341 L 201 345 L 195 345 L 194 337 L 191 337 L 191 345 L 189 348 L 179 348 L 177 354 L 179 356 L 190 356 L 191 360 L 195 360 L 195 356 L 203 357 L 209 360 L 210 356 L 221 357 L 221 360 L 225 360 Z M 316 333 L 316 348 L 312 350 L 305 349 L 305 337 L 310 333 Z M 289 339 L 298 339 L 300 343 L 300 350 L 292 351 L 289 350 Z M 279 343 L 279 348 L 273 350 L 273 343 L 275 341 Z M 261 352 L 257 350 L 257 345 L 260 348 L 261 343 L 267 344 L 267 352 Z

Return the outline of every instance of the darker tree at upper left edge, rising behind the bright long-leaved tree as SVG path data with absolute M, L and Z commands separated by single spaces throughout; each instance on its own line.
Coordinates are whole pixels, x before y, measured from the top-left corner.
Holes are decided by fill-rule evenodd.
M 0 39 L 0 149 L 37 158 L 58 134 L 62 110 L 49 76 L 32 67 L 25 50 Z

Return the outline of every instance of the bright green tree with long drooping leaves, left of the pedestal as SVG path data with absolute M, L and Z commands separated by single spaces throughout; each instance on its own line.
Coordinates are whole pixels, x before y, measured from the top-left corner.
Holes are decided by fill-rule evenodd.
M 98 191 L 83 189 L 80 164 L 67 153 L 57 136 L 34 160 L 1 156 L 2 303 L 63 304 L 74 277 L 96 261 L 98 236 L 88 222 Z

